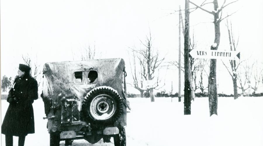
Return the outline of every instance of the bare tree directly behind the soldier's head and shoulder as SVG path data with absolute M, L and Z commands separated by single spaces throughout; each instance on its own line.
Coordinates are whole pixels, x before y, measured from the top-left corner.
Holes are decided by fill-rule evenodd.
M 37 86 L 39 86 L 40 82 L 41 82 L 41 77 L 39 77 L 39 74 L 41 74 L 42 71 L 40 70 L 40 65 L 38 65 L 38 63 L 37 63 L 37 55 L 36 55 L 36 60 L 34 62 L 34 65 L 32 65 L 30 55 L 28 55 L 28 54 L 22 55 L 22 58 L 23 58 L 25 64 L 31 67 L 30 74 L 34 79 L 36 79 L 38 81 Z

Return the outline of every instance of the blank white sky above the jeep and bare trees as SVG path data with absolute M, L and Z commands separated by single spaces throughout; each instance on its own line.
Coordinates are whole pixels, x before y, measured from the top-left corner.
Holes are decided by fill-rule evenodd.
M 222 1 L 219 0 L 219 4 Z M 195 2 L 202 3 L 201 0 Z M 96 50 L 102 52 L 101 58 L 124 58 L 129 65 L 128 47 L 142 47 L 139 39 L 145 39 L 149 27 L 154 38 L 153 47 L 161 55 L 167 54 L 167 62 L 178 60 L 178 14 L 168 14 L 179 5 L 184 9 L 184 0 L 1 0 L 0 4 L 1 76 L 16 75 L 18 64 L 23 63 L 22 54 L 31 55 L 33 62 L 37 56 L 38 64 L 43 65 L 45 62 L 72 60 L 72 50 L 79 51 L 89 44 L 96 45 Z M 262 6 L 261 0 L 240 0 L 224 11 L 226 14 L 238 10 L 231 19 L 236 36 L 240 36 L 238 49 L 243 59 L 251 57 L 262 61 Z M 190 15 L 190 34 L 194 30 L 200 49 L 209 49 L 213 43 L 213 24 L 203 23 L 210 22 L 211 18 L 201 10 Z M 219 49 L 229 50 L 225 22 L 221 23 Z M 167 72 L 169 86 L 165 87 L 166 90 L 170 89 L 171 81 L 174 90 L 178 90 L 177 74 L 177 70 Z M 221 61 L 218 61 L 217 78 L 218 92 L 229 91 L 232 82 Z

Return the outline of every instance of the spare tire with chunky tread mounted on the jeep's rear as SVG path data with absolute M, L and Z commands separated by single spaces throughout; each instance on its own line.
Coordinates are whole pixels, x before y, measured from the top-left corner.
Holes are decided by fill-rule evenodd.
M 113 124 L 122 113 L 120 95 L 111 87 L 94 88 L 86 95 L 82 111 L 89 123 Z

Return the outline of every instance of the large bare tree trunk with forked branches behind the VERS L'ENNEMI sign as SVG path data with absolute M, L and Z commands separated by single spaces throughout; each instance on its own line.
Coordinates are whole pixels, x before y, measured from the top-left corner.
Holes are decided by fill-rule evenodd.
M 203 4 L 206 2 L 205 0 Z M 236 0 L 238 1 L 238 0 Z M 201 10 L 211 14 L 214 17 L 214 45 L 211 46 L 211 50 L 217 50 L 219 43 L 220 43 L 220 22 L 227 18 L 230 15 L 226 15 L 225 17 L 222 17 L 222 11 L 226 6 L 229 6 L 230 4 L 233 4 L 236 1 L 232 1 L 228 4 L 226 4 L 226 0 L 224 0 L 222 6 L 219 8 L 218 1 L 213 0 L 213 2 L 210 2 L 214 6 L 213 11 L 208 11 L 205 8 L 203 8 L 202 4 L 197 5 L 193 3 L 192 1 L 189 1 L 191 4 L 196 6 L 197 8 L 200 8 Z M 235 13 L 235 12 L 234 12 Z M 216 59 L 211 59 L 210 60 L 210 73 L 209 73 L 209 78 L 208 78 L 208 95 L 209 95 L 209 109 L 210 109 L 210 116 L 212 114 L 217 115 L 217 78 L 216 78 L 216 69 L 217 69 L 217 60 Z

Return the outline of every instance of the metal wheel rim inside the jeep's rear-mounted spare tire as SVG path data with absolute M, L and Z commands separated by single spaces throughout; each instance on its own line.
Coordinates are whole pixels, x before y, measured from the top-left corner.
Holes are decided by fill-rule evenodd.
M 116 105 L 109 95 L 98 95 L 90 104 L 90 115 L 96 120 L 106 120 L 113 116 L 116 111 Z

